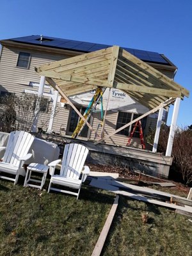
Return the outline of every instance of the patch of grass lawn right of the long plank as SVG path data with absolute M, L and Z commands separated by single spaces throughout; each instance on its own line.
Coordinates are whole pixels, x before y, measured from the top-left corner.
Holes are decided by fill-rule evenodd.
M 147 223 L 142 220 L 146 214 Z M 188 219 L 165 207 L 120 197 L 102 255 L 191 256 L 192 223 Z

